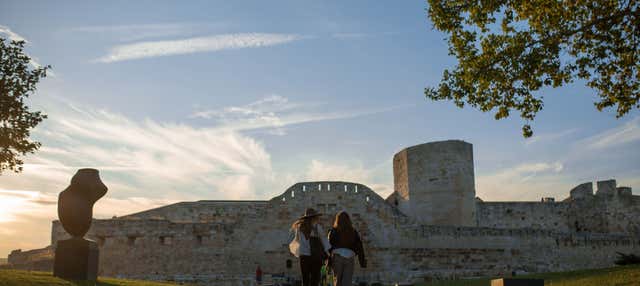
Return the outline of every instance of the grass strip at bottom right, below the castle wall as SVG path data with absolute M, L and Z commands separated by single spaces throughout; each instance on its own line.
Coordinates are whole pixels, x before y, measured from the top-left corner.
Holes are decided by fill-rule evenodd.
M 522 275 L 515 278 L 542 278 L 552 286 L 640 286 L 640 265 L 571 272 Z M 421 286 L 489 286 L 492 278 L 439 281 Z

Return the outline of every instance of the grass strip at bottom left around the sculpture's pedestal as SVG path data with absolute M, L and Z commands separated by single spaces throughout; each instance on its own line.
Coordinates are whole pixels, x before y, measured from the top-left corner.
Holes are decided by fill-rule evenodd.
M 51 272 L 0 270 L 0 286 L 89 286 L 93 283 L 68 281 L 53 277 Z M 169 286 L 177 285 L 150 281 L 98 278 L 99 286 Z

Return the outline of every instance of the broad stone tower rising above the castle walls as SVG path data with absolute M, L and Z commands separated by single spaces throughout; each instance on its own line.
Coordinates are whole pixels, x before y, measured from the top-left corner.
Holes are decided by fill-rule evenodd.
M 475 226 L 473 146 L 460 140 L 408 147 L 393 156 L 397 206 L 428 225 Z

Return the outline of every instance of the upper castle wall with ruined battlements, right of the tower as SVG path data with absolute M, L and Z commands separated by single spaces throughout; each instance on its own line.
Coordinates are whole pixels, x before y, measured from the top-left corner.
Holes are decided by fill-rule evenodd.
M 535 228 L 559 232 L 626 233 L 640 235 L 640 196 L 615 180 L 583 183 L 562 202 L 476 203 L 481 227 Z

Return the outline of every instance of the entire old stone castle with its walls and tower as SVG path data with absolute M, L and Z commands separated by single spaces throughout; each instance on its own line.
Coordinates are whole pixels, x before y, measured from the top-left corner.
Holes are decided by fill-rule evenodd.
M 267 201 L 181 202 L 94 220 L 88 237 L 100 245 L 100 275 L 224 284 L 249 283 L 258 265 L 272 279 L 299 276 L 289 228 L 307 207 L 327 214 L 325 228 L 337 211 L 351 214 L 369 261 L 355 279 L 370 283 L 610 267 L 616 252 L 640 252 L 640 196 L 614 180 L 595 193 L 578 185 L 562 201 L 484 202 L 472 145 L 458 140 L 406 148 L 393 171 L 386 199 L 359 183 L 301 182 Z M 54 221 L 52 245 L 67 237 Z

